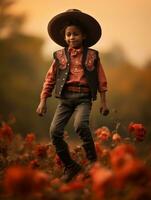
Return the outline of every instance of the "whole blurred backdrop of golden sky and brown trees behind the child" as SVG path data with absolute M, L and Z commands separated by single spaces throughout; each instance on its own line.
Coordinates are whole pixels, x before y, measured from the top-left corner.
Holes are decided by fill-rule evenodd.
M 36 114 L 42 84 L 58 50 L 47 33 L 56 14 L 77 8 L 94 16 L 102 26 L 101 40 L 92 48 L 100 52 L 108 79 L 110 115 L 99 113 L 100 99 L 93 104 L 92 130 L 119 126 L 127 133 L 130 122 L 143 123 L 151 131 L 151 17 L 149 0 L 0 0 L 0 118 L 16 119 L 14 130 L 23 136 L 35 132 L 49 138 L 49 126 L 57 99 L 48 100 L 45 117 Z M 66 130 L 74 138 L 72 120 Z M 149 142 L 151 136 L 148 134 Z

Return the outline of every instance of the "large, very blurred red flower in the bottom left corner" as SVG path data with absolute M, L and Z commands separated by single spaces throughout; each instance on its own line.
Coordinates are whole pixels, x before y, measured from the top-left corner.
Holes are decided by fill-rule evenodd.
M 49 185 L 48 175 L 28 167 L 13 166 L 6 170 L 4 188 L 8 194 L 31 195 Z

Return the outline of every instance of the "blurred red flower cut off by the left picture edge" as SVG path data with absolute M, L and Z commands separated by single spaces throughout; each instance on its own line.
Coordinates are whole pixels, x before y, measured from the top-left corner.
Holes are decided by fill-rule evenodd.
M 0 128 L 0 140 L 4 139 L 7 142 L 12 142 L 14 132 L 8 124 L 3 124 Z

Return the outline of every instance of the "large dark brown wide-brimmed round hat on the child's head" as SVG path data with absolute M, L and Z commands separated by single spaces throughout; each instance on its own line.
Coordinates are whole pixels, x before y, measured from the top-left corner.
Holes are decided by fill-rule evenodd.
M 60 46 L 67 46 L 64 35 L 61 30 L 67 25 L 69 21 L 79 21 L 86 32 L 85 45 L 87 47 L 93 46 L 98 42 L 102 35 L 100 24 L 92 16 L 81 12 L 77 9 L 69 9 L 53 17 L 48 23 L 48 33 L 50 38 Z

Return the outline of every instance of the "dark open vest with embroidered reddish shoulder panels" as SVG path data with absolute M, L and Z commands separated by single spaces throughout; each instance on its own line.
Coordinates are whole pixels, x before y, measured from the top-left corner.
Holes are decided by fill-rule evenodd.
M 69 74 L 70 56 L 66 48 L 54 52 L 54 58 L 57 61 L 57 75 L 55 96 L 60 98 L 63 87 Z M 98 89 L 98 72 L 97 72 L 98 51 L 85 48 L 83 51 L 82 66 L 90 87 L 91 96 L 96 100 Z

